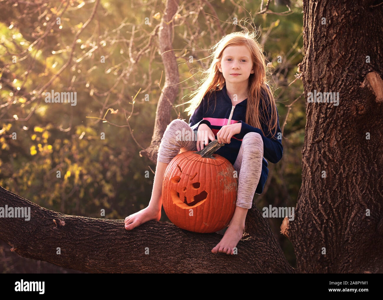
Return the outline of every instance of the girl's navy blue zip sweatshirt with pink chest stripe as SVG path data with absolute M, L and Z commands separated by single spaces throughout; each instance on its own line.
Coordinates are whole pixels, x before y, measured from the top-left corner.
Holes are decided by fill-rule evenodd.
M 214 93 L 216 95 L 216 105 Z M 262 90 L 262 98 L 259 103 L 259 110 L 262 113 L 264 109 L 264 98 L 268 97 L 267 93 Z M 207 99 L 208 98 L 208 99 Z M 270 102 L 268 102 L 270 103 Z M 214 109 L 215 108 L 215 109 Z M 239 148 L 242 144 L 242 139 L 248 132 L 256 132 L 259 133 L 264 142 L 264 157 L 262 159 L 262 172 L 259 179 L 259 183 L 257 185 L 257 189 L 255 193 L 260 195 L 263 192 L 267 176 L 268 176 L 268 163 L 266 159 L 274 164 L 282 159 L 283 154 L 283 146 L 282 139 L 277 139 L 278 133 L 281 132 L 279 127 L 279 118 L 277 123 L 277 128 L 275 129 L 275 136 L 272 138 L 272 133 L 268 132 L 267 124 L 261 121 L 262 130 L 265 133 L 268 133 L 266 136 L 262 133 L 262 130 L 259 128 L 255 128 L 245 123 L 246 121 L 246 108 L 247 108 L 247 99 L 239 102 L 235 106 L 232 105 L 231 99 L 226 92 L 226 84 L 224 85 L 222 90 L 215 91 L 210 93 L 210 95 L 206 95 L 201 101 L 200 105 L 195 109 L 193 114 L 190 116 L 189 125 L 191 129 L 197 132 L 198 127 L 201 124 L 206 124 L 209 126 L 215 138 L 217 138 L 217 133 L 221 129 L 223 125 L 231 125 L 234 123 L 241 122 L 241 132 L 238 134 L 234 134 L 230 143 L 226 144 L 219 148 L 216 154 L 219 154 L 225 157 L 231 164 L 234 166 L 234 163 L 237 159 Z M 267 107 L 268 114 L 264 116 L 265 120 L 270 120 L 271 116 L 271 106 L 268 104 Z M 277 110 L 278 116 L 278 110 Z M 282 134 L 280 134 L 282 137 Z M 209 141 L 210 142 L 210 141 Z M 266 159 L 265 159 L 266 158 Z

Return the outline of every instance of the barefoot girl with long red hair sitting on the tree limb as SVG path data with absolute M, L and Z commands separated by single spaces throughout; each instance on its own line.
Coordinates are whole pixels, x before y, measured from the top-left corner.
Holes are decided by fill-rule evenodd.
M 234 215 L 226 231 L 217 232 L 224 235 L 211 252 L 233 254 L 242 238 L 254 193 L 263 192 L 268 175 L 264 156 L 274 164 L 282 158 L 282 134 L 275 100 L 266 84 L 265 57 L 255 34 L 228 34 L 213 49 L 213 63 L 200 87 L 191 93 L 194 97 L 187 102 L 190 106 L 185 111 L 189 111 L 188 115 L 193 111 L 189 124 L 176 119 L 165 130 L 149 205 L 126 217 L 125 228 L 132 230 L 146 221 L 160 220 L 164 172 L 180 148 L 199 151 L 209 140 L 217 139 L 225 145 L 215 153 L 233 164 L 238 174 L 238 191 Z M 187 130 L 196 130 L 197 142 L 176 139 L 177 132 L 182 130 L 184 136 Z

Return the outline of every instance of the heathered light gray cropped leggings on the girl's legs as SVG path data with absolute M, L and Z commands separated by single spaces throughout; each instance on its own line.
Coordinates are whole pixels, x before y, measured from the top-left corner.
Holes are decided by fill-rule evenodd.
M 170 122 L 161 139 L 157 161 L 169 164 L 173 157 L 180 152 L 181 148 L 185 148 L 188 151 L 197 151 L 196 141 L 177 139 L 177 136 L 180 133 L 182 134 L 182 130 L 185 131 L 185 136 L 187 131 L 190 131 L 191 137 L 195 136 L 195 133 L 185 121 L 175 119 Z M 249 209 L 252 206 L 255 189 L 261 176 L 263 153 L 263 141 L 260 134 L 256 132 L 246 133 L 234 163 L 234 169 L 238 174 L 236 202 L 238 207 Z

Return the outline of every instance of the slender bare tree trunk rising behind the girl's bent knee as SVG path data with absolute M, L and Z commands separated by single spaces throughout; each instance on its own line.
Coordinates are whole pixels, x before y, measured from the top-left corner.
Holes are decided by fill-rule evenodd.
M 178 83 L 180 74 L 177 68 L 177 60 L 172 50 L 173 21 L 172 18 L 177 12 L 178 0 L 168 0 L 164 16 L 161 19 L 158 32 L 159 50 L 165 68 L 165 84 L 158 100 L 157 111 L 155 112 L 154 130 L 151 144 L 145 150 L 139 152 L 140 156 L 149 158 L 152 162 L 157 162 L 158 148 L 162 136 L 170 123 L 170 111 L 178 95 Z

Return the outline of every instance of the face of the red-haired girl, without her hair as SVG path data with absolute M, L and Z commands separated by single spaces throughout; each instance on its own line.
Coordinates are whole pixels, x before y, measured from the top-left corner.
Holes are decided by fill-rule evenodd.
M 248 80 L 254 73 L 250 50 L 244 45 L 226 47 L 217 66 L 225 80 L 233 84 Z

